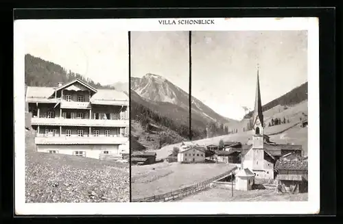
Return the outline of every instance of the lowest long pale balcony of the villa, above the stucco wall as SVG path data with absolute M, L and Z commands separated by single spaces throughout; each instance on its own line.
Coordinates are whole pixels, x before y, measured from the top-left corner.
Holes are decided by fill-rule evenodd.
M 121 145 L 128 142 L 127 137 L 65 137 L 38 136 L 34 138 L 36 145 Z

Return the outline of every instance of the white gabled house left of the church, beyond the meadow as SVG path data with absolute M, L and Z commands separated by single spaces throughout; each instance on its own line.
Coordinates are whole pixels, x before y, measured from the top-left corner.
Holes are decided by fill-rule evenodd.
M 204 162 L 205 161 L 206 147 L 192 146 L 182 149 L 178 153 L 178 162 Z

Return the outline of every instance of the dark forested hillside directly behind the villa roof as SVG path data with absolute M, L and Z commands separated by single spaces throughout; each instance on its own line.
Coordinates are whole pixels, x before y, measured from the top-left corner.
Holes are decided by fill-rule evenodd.
M 70 70 L 67 71 L 62 66 L 54 64 L 53 62 L 48 62 L 30 54 L 25 55 L 25 84 L 27 86 L 55 87 L 58 82 L 67 83 L 76 78 L 81 79 L 95 88 L 114 89 L 113 86 L 103 86 L 78 73 L 73 73 Z

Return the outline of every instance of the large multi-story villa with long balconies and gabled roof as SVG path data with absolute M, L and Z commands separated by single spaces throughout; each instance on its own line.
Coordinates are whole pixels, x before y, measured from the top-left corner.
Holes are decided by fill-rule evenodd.
M 27 86 L 37 151 L 119 158 L 129 151 L 128 96 L 75 79 L 54 87 Z

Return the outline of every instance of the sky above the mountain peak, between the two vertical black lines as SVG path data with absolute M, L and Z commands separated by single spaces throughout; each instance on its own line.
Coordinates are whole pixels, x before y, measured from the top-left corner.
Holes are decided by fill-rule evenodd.
M 189 92 L 189 32 L 131 32 L 131 76 L 147 73 Z

